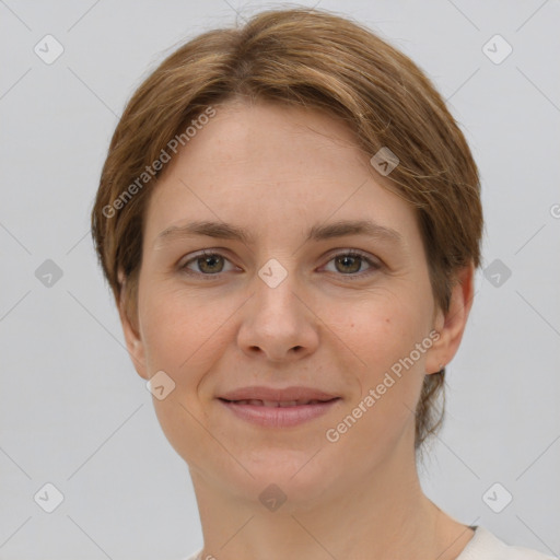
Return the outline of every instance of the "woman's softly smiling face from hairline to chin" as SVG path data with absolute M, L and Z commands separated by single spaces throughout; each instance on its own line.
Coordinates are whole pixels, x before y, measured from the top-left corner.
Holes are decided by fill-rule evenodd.
M 339 121 L 259 103 L 217 107 L 155 188 L 127 342 L 221 492 L 312 503 L 413 457 L 424 373 L 451 355 L 416 214 L 382 180 Z M 264 407 L 256 386 L 302 393 Z

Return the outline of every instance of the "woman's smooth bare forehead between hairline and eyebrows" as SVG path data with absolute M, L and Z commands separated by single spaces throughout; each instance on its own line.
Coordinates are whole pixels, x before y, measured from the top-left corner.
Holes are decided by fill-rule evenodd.
M 215 109 L 159 180 L 147 236 L 194 219 L 253 224 L 257 234 L 329 217 L 413 228 L 412 209 L 384 188 L 339 118 L 269 103 Z

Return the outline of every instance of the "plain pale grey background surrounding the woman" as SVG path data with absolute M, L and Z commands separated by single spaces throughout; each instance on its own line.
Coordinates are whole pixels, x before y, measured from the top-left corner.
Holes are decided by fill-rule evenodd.
M 171 560 L 201 545 L 188 470 L 124 349 L 89 212 L 142 78 L 235 11 L 279 5 L 0 1 L 0 559 Z M 366 23 L 448 100 L 482 175 L 483 266 L 511 270 L 477 275 L 423 487 L 463 523 L 559 555 L 559 2 L 318 7 Z M 51 65 L 34 52 L 47 34 L 65 49 Z M 513 47 L 499 65 L 482 50 L 495 34 Z M 36 277 L 46 259 L 62 271 L 50 287 Z M 52 513 L 34 501 L 47 482 L 65 497 Z M 501 513 L 482 499 L 495 482 L 513 495 Z

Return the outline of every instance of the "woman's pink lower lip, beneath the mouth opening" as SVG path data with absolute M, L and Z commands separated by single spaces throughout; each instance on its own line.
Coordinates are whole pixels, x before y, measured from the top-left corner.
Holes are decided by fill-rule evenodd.
M 265 407 L 258 405 L 237 405 L 236 402 L 219 399 L 234 415 L 265 428 L 290 428 L 318 418 L 328 412 L 340 398 L 317 402 L 315 405 L 300 405 L 295 407 Z

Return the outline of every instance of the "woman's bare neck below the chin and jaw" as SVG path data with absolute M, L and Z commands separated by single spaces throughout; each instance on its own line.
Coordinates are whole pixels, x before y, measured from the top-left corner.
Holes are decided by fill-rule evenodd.
M 190 472 L 205 559 L 452 560 L 472 536 L 423 494 L 413 456 L 411 464 L 395 456 L 374 471 L 364 470 L 363 483 L 341 477 L 312 500 L 298 501 L 298 493 L 288 489 L 288 500 L 275 512 L 262 506 L 258 490 L 252 500 L 240 500 L 214 486 L 202 470 Z M 264 481 L 259 488 L 268 485 Z

